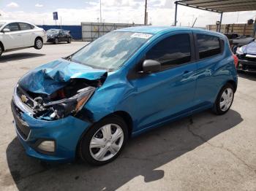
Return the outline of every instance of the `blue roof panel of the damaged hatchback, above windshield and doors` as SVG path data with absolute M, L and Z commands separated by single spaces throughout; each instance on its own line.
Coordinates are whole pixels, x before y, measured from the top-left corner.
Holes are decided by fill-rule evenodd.
M 192 27 L 177 27 L 177 26 L 135 26 L 135 27 L 127 27 L 121 28 L 116 31 L 121 32 L 137 32 L 137 33 L 147 33 L 147 34 L 159 34 L 162 32 L 171 32 L 171 31 L 204 31 L 211 34 L 218 34 L 215 31 L 208 31 L 201 28 L 192 28 Z

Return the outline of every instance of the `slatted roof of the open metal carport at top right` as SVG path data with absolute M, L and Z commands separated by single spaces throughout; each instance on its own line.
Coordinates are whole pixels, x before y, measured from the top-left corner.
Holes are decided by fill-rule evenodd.
M 255 0 L 180 0 L 176 1 L 176 3 L 219 13 L 256 10 Z

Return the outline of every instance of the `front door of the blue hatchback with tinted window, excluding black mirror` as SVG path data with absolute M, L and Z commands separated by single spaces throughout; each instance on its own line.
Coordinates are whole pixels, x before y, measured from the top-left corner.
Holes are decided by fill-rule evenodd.
M 197 64 L 192 38 L 190 31 L 169 34 L 146 52 L 145 59 L 159 61 L 162 70 L 130 81 L 137 89 L 137 130 L 187 114 L 194 106 Z

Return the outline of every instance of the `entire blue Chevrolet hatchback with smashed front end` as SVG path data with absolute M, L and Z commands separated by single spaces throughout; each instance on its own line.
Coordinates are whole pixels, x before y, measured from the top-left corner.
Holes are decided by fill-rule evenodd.
M 129 137 L 205 109 L 225 114 L 237 81 L 224 35 L 132 27 L 29 71 L 11 106 L 29 156 L 103 165 Z

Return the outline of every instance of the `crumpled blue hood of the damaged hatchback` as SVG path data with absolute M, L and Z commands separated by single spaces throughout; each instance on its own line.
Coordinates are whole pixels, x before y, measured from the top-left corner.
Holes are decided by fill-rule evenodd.
M 92 69 L 80 63 L 59 59 L 46 63 L 25 74 L 18 84 L 33 93 L 50 95 L 67 84 L 69 79 L 99 79 L 105 70 Z

